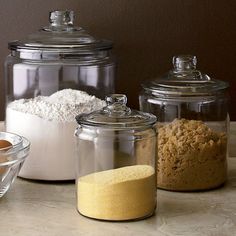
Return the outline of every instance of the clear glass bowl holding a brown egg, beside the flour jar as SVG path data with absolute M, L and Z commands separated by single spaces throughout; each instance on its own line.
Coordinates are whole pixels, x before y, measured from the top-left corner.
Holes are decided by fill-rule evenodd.
M 7 192 L 17 177 L 29 154 L 30 142 L 17 134 L 0 132 L 0 140 L 12 146 L 0 149 L 0 198 Z

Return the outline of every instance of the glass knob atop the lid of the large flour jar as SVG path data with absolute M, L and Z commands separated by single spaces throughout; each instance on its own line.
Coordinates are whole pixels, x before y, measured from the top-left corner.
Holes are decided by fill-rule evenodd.
M 49 13 L 49 21 L 51 26 L 72 26 L 74 22 L 73 11 L 51 11 Z

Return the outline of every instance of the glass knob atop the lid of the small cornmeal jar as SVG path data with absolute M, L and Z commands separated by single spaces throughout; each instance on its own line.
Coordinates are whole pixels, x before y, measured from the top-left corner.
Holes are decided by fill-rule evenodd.
M 131 109 L 126 106 L 127 97 L 124 94 L 111 94 L 106 96 L 105 101 L 107 106 L 104 108 L 104 111 L 109 114 L 124 115 L 131 112 Z

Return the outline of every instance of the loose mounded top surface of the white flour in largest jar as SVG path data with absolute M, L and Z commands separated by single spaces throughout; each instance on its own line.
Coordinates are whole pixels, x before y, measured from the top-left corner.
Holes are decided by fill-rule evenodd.
M 75 116 L 101 109 L 105 101 L 84 91 L 64 89 L 49 97 L 20 99 L 8 107 L 16 111 L 37 115 L 45 120 L 74 121 Z

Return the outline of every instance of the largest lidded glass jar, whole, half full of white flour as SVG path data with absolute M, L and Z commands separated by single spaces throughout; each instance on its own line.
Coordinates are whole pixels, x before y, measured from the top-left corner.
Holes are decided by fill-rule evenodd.
M 72 11 L 53 11 L 49 26 L 9 43 L 11 54 L 5 62 L 6 130 L 27 137 L 32 144 L 21 177 L 74 179 L 71 143 L 76 122 L 74 117 L 64 119 L 65 113 L 75 113 L 74 106 L 83 103 L 87 105 L 81 107 L 82 112 L 102 107 L 95 98 L 75 91 L 100 99 L 114 92 L 112 43 L 95 39 L 75 27 L 73 20 Z M 32 107 L 32 103 L 36 105 Z

